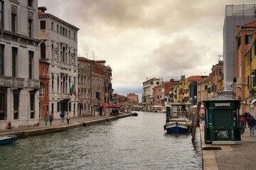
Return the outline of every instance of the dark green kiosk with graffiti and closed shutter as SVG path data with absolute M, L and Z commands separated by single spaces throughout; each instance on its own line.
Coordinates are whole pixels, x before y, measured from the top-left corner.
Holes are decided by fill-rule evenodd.
M 206 144 L 241 144 L 239 109 L 240 101 L 223 94 L 203 101 L 205 109 Z

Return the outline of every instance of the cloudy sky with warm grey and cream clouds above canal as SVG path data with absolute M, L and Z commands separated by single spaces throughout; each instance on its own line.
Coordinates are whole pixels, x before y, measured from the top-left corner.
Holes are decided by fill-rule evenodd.
M 225 4 L 254 0 L 38 0 L 80 28 L 78 56 L 106 60 L 114 93 L 142 96 L 146 78 L 208 75 L 223 54 Z M 94 52 L 95 57 L 93 57 Z

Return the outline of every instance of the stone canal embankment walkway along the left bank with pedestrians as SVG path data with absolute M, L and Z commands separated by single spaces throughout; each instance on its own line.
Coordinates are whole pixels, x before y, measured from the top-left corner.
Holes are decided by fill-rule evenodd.
M 107 121 L 117 120 L 119 118 L 126 118 L 130 116 L 129 114 L 120 114 L 117 116 L 86 116 L 78 118 L 70 118 L 70 125 L 68 125 L 67 120 L 64 120 L 63 125 L 60 119 L 53 120 L 52 125 L 48 122 L 45 125 L 44 120 L 41 120 L 38 126 L 33 127 L 23 127 L 23 128 L 11 128 L 0 130 L 0 136 L 3 135 L 17 135 L 18 138 L 33 136 L 33 135 L 43 135 L 52 132 L 62 132 L 65 130 L 70 130 L 74 128 L 80 128 L 83 126 L 94 125 L 97 123 L 105 123 Z

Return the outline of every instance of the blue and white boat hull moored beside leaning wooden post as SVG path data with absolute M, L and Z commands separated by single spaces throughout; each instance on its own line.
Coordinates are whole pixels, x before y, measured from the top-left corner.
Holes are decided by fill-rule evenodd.
M 172 118 L 165 125 L 164 130 L 170 133 L 191 132 L 192 120 L 188 118 Z

